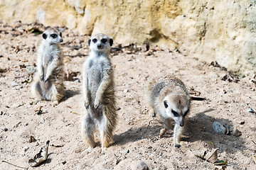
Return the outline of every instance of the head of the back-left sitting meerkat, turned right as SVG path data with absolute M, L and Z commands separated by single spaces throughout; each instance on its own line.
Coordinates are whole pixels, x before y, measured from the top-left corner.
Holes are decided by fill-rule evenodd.
M 50 44 L 57 44 L 63 42 L 62 34 L 60 30 L 56 28 L 47 27 L 43 32 L 43 39 L 49 42 Z

